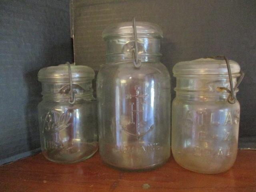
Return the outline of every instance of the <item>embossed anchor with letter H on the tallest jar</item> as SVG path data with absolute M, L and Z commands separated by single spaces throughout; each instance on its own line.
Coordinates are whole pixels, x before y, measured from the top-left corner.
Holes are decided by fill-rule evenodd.
M 140 93 L 140 86 L 135 86 L 135 95 L 128 94 L 126 99 L 130 100 L 130 122 L 122 126 L 127 134 L 140 138 L 150 132 L 154 125 L 147 125 L 147 103 L 148 94 Z M 132 102 L 132 100 L 135 102 Z

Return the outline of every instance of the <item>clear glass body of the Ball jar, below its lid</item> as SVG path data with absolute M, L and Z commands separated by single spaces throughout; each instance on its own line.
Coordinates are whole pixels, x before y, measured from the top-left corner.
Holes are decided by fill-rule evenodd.
M 69 94 L 54 93 L 53 88 L 62 86 L 43 83 L 43 94 L 48 96 L 38 105 L 41 149 L 48 160 L 74 163 L 98 150 L 97 103 L 92 96 L 82 99 L 76 95 L 78 100 L 71 105 Z M 78 94 L 85 92 L 78 90 L 78 85 L 73 86 Z

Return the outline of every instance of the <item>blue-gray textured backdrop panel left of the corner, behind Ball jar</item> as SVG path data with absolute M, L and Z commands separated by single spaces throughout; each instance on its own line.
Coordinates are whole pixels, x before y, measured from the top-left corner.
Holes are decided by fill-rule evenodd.
M 72 62 L 69 0 L 0 2 L 0 164 L 40 148 L 40 68 Z

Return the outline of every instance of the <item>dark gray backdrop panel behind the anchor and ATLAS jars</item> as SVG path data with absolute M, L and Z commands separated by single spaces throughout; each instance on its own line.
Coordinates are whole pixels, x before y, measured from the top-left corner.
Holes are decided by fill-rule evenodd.
M 238 62 L 246 74 L 237 97 L 239 146 L 256 148 L 255 0 L 73 0 L 73 16 L 75 62 L 94 70 L 105 62 L 102 30 L 133 16 L 162 28 L 162 63 L 171 74 L 184 60 L 225 55 Z

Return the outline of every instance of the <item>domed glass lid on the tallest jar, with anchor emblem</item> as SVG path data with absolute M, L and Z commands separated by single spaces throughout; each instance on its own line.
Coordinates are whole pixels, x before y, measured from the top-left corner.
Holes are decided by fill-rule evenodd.
M 153 23 L 136 22 L 136 30 L 138 36 L 163 37 L 161 28 Z M 106 27 L 102 32 L 102 37 L 107 38 L 109 36 L 133 36 L 132 22 L 122 22 Z

